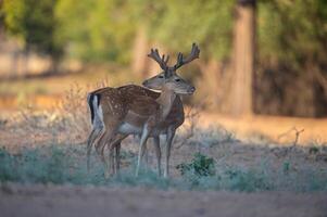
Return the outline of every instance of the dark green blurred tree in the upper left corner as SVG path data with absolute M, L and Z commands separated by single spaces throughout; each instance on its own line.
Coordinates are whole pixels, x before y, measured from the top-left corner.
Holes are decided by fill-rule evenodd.
M 63 54 L 56 41 L 54 17 L 55 0 L 4 0 L 3 14 L 7 30 L 25 43 L 26 56 L 29 50 L 51 55 L 50 72 L 56 72 L 58 62 Z

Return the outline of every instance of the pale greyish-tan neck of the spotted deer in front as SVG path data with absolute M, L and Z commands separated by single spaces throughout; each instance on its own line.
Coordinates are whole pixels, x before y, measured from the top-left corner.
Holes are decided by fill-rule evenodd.
M 160 104 L 160 119 L 165 119 L 173 106 L 174 100 L 176 99 L 176 93 L 167 88 L 163 88 L 156 102 Z

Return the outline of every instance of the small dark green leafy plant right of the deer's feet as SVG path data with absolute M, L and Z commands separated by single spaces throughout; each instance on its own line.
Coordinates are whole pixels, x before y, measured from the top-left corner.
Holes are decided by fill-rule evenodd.
M 206 177 L 215 175 L 215 164 L 212 157 L 207 157 L 200 152 L 194 154 L 191 163 L 183 163 L 176 166 L 176 168 L 184 176 L 186 174 L 192 174 L 198 177 Z

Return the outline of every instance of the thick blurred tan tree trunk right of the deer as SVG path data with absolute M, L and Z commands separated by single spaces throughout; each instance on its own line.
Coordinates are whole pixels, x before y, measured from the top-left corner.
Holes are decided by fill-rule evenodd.
M 239 0 L 236 8 L 232 56 L 231 114 L 253 112 L 255 58 L 255 0 Z

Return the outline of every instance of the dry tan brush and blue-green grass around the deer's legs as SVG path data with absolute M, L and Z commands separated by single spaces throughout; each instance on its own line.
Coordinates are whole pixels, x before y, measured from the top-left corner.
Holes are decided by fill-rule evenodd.
M 126 151 L 129 142 L 124 144 L 122 153 L 127 166 L 106 180 L 96 155 L 92 155 L 90 173 L 87 171 L 86 148 L 79 145 L 85 143 L 90 129 L 85 92 L 73 86 L 61 106 L 43 112 L 33 107 L 22 110 L 18 116 L 10 117 L 1 126 L 5 135 L 18 136 L 18 144 L 14 148 L 13 141 L 0 141 L 3 146 L 0 149 L 0 182 L 244 192 L 327 191 L 326 145 L 272 146 L 262 138 L 255 145 L 246 144 L 223 127 L 198 128 L 197 112 L 186 116 L 188 126 L 184 125 L 174 142 L 173 155 L 179 161 L 175 159 L 179 175 L 165 179 L 151 169 L 143 169 L 135 177 L 133 153 L 137 146 L 131 144 L 133 152 Z

